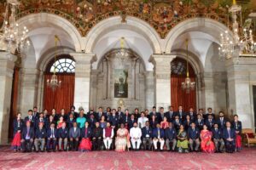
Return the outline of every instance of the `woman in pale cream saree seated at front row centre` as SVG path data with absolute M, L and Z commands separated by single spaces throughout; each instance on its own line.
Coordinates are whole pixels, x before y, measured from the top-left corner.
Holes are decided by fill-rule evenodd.
M 127 148 L 131 147 L 130 135 L 129 131 L 125 128 L 125 124 L 121 123 L 115 139 L 115 150 L 119 152 L 125 151 L 126 146 Z

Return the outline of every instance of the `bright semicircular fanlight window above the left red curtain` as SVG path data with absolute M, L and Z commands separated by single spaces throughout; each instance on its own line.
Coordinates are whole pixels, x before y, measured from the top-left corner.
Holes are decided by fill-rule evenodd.
M 57 59 L 55 63 L 50 66 L 50 72 L 67 72 L 74 73 L 75 61 L 73 59 Z

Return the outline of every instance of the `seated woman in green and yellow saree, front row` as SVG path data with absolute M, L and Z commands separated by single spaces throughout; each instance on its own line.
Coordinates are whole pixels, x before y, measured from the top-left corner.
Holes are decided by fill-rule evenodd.
M 189 141 L 187 132 L 184 129 L 183 125 L 180 125 L 178 133 L 177 133 L 177 149 L 180 153 L 188 153 L 189 152 Z

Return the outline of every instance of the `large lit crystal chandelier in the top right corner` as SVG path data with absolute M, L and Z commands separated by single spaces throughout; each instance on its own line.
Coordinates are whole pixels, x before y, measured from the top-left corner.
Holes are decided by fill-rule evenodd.
M 253 42 L 253 31 L 250 30 L 252 20 L 246 20 L 243 29 L 241 29 L 242 32 L 240 32 L 237 16 L 240 14 L 241 20 L 241 6 L 236 4 L 236 0 L 233 0 L 229 13 L 232 15 L 233 35 L 231 38 L 233 41 L 230 39 L 229 31 L 224 31 L 224 33 L 220 34 L 220 47 L 218 48 L 220 59 L 225 60 L 236 57 L 238 61 L 239 56 L 242 55 L 254 56 L 256 54 L 256 43 Z

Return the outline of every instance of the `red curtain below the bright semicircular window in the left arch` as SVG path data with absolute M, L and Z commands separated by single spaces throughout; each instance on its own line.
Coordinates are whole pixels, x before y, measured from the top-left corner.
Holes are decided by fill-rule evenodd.
M 47 80 L 51 76 L 52 74 L 49 73 L 44 75 L 44 109 L 50 113 L 55 108 L 56 112 L 60 113 L 64 108 L 67 112 L 73 105 L 74 74 L 57 74 L 58 80 L 61 81 L 61 88 L 56 88 L 55 91 L 47 86 Z

